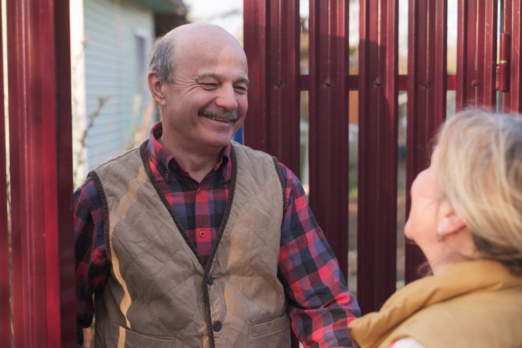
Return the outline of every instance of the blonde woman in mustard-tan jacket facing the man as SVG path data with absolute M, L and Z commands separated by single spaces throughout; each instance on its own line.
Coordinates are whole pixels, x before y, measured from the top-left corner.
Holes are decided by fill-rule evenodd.
M 405 234 L 433 275 L 351 322 L 361 347 L 522 347 L 522 119 L 466 111 L 411 186 Z

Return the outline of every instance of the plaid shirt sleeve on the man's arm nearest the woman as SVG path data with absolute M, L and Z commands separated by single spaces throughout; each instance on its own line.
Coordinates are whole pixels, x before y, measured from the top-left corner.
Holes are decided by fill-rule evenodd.
M 361 311 L 339 263 L 317 225 L 295 174 L 286 182 L 278 276 L 287 295 L 292 330 L 305 347 L 350 347 L 348 325 Z

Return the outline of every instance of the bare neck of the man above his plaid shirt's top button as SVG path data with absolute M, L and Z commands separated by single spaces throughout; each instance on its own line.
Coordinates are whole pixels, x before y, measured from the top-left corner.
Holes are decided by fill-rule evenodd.
M 219 149 L 212 152 L 198 152 L 194 151 L 194 148 L 186 149 L 180 146 L 172 146 L 163 141 L 163 137 L 160 137 L 158 141 L 198 183 L 203 181 L 208 172 L 216 166 L 222 151 L 222 149 Z

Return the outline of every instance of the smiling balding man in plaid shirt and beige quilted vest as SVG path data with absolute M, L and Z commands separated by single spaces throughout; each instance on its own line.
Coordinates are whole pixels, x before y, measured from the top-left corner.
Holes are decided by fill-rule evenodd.
M 359 307 L 298 178 L 230 142 L 247 110 L 240 44 L 176 28 L 148 84 L 150 140 L 75 193 L 79 331 L 95 313 L 97 346 L 283 347 L 291 322 L 305 346 L 350 346 Z

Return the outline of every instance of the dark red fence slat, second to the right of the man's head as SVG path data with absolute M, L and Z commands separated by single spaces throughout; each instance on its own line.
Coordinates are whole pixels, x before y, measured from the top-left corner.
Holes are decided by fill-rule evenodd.
M 310 1 L 310 206 L 348 272 L 348 1 Z

